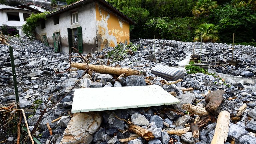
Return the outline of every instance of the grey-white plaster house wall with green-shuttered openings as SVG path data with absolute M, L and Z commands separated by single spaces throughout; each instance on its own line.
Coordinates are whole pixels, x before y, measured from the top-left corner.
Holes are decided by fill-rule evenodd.
M 72 12 L 78 11 L 78 23 L 71 23 Z M 96 51 L 96 15 L 93 3 L 82 5 L 72 11 L 66 11 L 59 15 L 59 24 L 54 25 L 54 17 L 50 17 L 45 21 L 45 28 L 41 29 L 41 25 L 36 28 L 36 38 L 43 41 L 43 35 L 47 36 L 48 43 L 53 47 L 52 35 L 60 32 L 61 51 L 69 53 L 68 31 L 67 28 L 82 27 L 83 52 L 89 53 Z M 54 49 L 54 48 L 53 48 Z

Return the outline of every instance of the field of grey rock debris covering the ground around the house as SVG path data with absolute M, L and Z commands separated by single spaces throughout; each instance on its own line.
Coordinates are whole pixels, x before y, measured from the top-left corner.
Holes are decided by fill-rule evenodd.
M 238 66 L 211 69 L 218 73 L 234 75 L 234 77 L 240 76 L 245 79 L 243 83 L 229 83 L 216 75 L 185 73 L 183 81 L 167 85 L 163 82 L 163 78 L 156 77 L 150 72 L 151 68 L 156 65 L 178 66 L 178 63 L 193 54 L 193 43 L 155 40 L 155 61 L 153 61 L 153 40 L 138 39 L 132 42 L 138 46 L 138 51 L 132 55 L 128 54 L 122 61 L 112 63 L 110 59 L 109 66 L 136 69 L 142 75 L 121 77 L 114 82 L 118 75 L 92 72 L 91 75 L 82 76 L 83 70 L 55 74 L 57 71 L 69 68 L 68 54 L 55 53 L 54 48 L 47 47 L 40 41 L 11 38 L 9 44 L 13 46 L 14 51 L 19 104 L 20 108 L 25 111 L 30 131 L 41 115 L 40 110 L 47 109 L 33 137 L 36 137 L 42 144 L 210 144 L 217 131 L 218 114 L 225 110 L 231 117 L 225 144 L 256 143 L 256 92 L 244 87 L 245 85 L 255 86 L 256 47 L 235 45 L 234 59 L 241 61 Z M 200 43 L 196 42 L 195 47 L 195 53 L 198 54 Z M 203 43 L 202 48 L 202 61 L 227 62 L 231 60 L 232 45 Z M 112 49 L 106 48 L 101 52 L 91 53 L 87 55 L 88 61 L 94 65 L 106 65 L 108 59 L 105 55 Z M 81 58 L 72 58 L 72 61 L 83 62 Z M 7 45 L 0 45 L 0 66 L 0 108 L 2 108 L 15 103 Z M 179 99 L 180 104 L 73 114 L 71 107 L 74 90 L 70 91 L 70 89 L 77 82 L 75 88 L 159 85 Z M 183 91 L 187 88 L 193 88 L 193 90 Z M 198 115 L 183 109 L 182 105 L 191 104 L 207 110 L 210 102 L 206 97 L 211 93 L 214 95 L 215 91 L 219 94 L 219 90 L 223 92 L 221 95 L 221 100 L 223 100 L 218 110 L 208 112 L 214 118 L 200 127 L 199 136 L 194 137 L 189 126 L 198 121 Z M 69 94 L 48 111 L 49 107 L 67 92 Z M 124 101 L 129 100 L 129 98 L 124 99 Z M 35 107 L 38 102 L 38 107 Z M 239 115 L 238 109 L 241 106 L 246 107 Z M 0 118 L 3 119 L 3 117 L 1 113 Z M 59 117 L 61 117 L 59 120 L 52 122 Z M 206 115 L 201 116 L 201 119 L 203 117 Z M 49 123 L 53 135 L 50 135 L 46 123 Z M 1 126 L 3 125 L 2 122 Z M 140 127 L 151 134 L 152 138 L 147 139 L 145 135 L 134 132 L 131 130 L 132 126 Z M 173 132 L 184 129 L 189 130 L 182 134 Z M 16 143 L 17 134 L 8 134 L 5 127 L 1 127 L 0 133 L 0 141 L 8 139 L 5 143 Z M 29 138 L 27 143 L 30 143 Z

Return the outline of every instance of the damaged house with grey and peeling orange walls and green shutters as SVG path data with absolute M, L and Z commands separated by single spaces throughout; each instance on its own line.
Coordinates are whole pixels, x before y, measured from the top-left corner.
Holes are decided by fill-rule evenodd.
M 101 51 L 120 42 L 129 43 L 129 25 L 134 22 L 105 0 L 80 0 L 48 14 L 36 28 L 36 38 L 55 52 Z

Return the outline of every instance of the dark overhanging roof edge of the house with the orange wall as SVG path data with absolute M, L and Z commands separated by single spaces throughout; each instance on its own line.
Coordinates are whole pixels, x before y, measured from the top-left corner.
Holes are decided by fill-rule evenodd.
M 92 2 L 92 1 L 98 1 L 100 2 L 101 4 L 103 4 L 105 7 L 111 9 L 113 12 L 115 12 L 116 14 L 118 14 L 119 16 L 121 16 L 122 18 L 124 18 L 125 20 L 127 20 L 130 24 L 135 24 L 135 22 L 130 19 L 128 16 L 126 16 L 125 14 L 123 14 L 122 12 L 120 12 L 118 9 L 116 9 L 114 6 L 112 6 L 110 3 L 106 2 L 105 0 L 79 0 L 77 2 L 74 2 L 58 11 L 55 11 L 53 13 L 50 13 L 48 15 L 46 15 L 46 18 L 47 17 L 52 17 L 54 15 L 57 15 L 57 14 L 60 14 L 60 13 L 63 13 L 65 11 L 68 11 L 70 9 L 73 9 L 77 6 L 80 6 L 80 5 L 83 5 L 83 4 L 86 4 L 86 3 L 89 3 L 89 2 Z

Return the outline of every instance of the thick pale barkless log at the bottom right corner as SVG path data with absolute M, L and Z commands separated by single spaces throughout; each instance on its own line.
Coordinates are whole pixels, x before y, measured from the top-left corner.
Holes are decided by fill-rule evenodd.
M 218 116 L 217 125 L 215 128 L 215 132 L 214 132 L 211 144 L 225 143 L 225 141 L 228 138 L 229 122 L 230 122 L 230 113 L 227 111 L 221 111 Z

